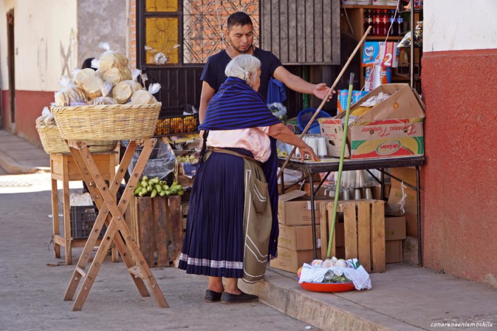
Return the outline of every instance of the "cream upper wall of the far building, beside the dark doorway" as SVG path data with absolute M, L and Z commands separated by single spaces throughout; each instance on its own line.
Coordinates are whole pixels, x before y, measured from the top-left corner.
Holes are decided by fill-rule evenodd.
M 77 65 L 77 1 L 15 2 L 15 88 L 57 90 L 61 75 Z

